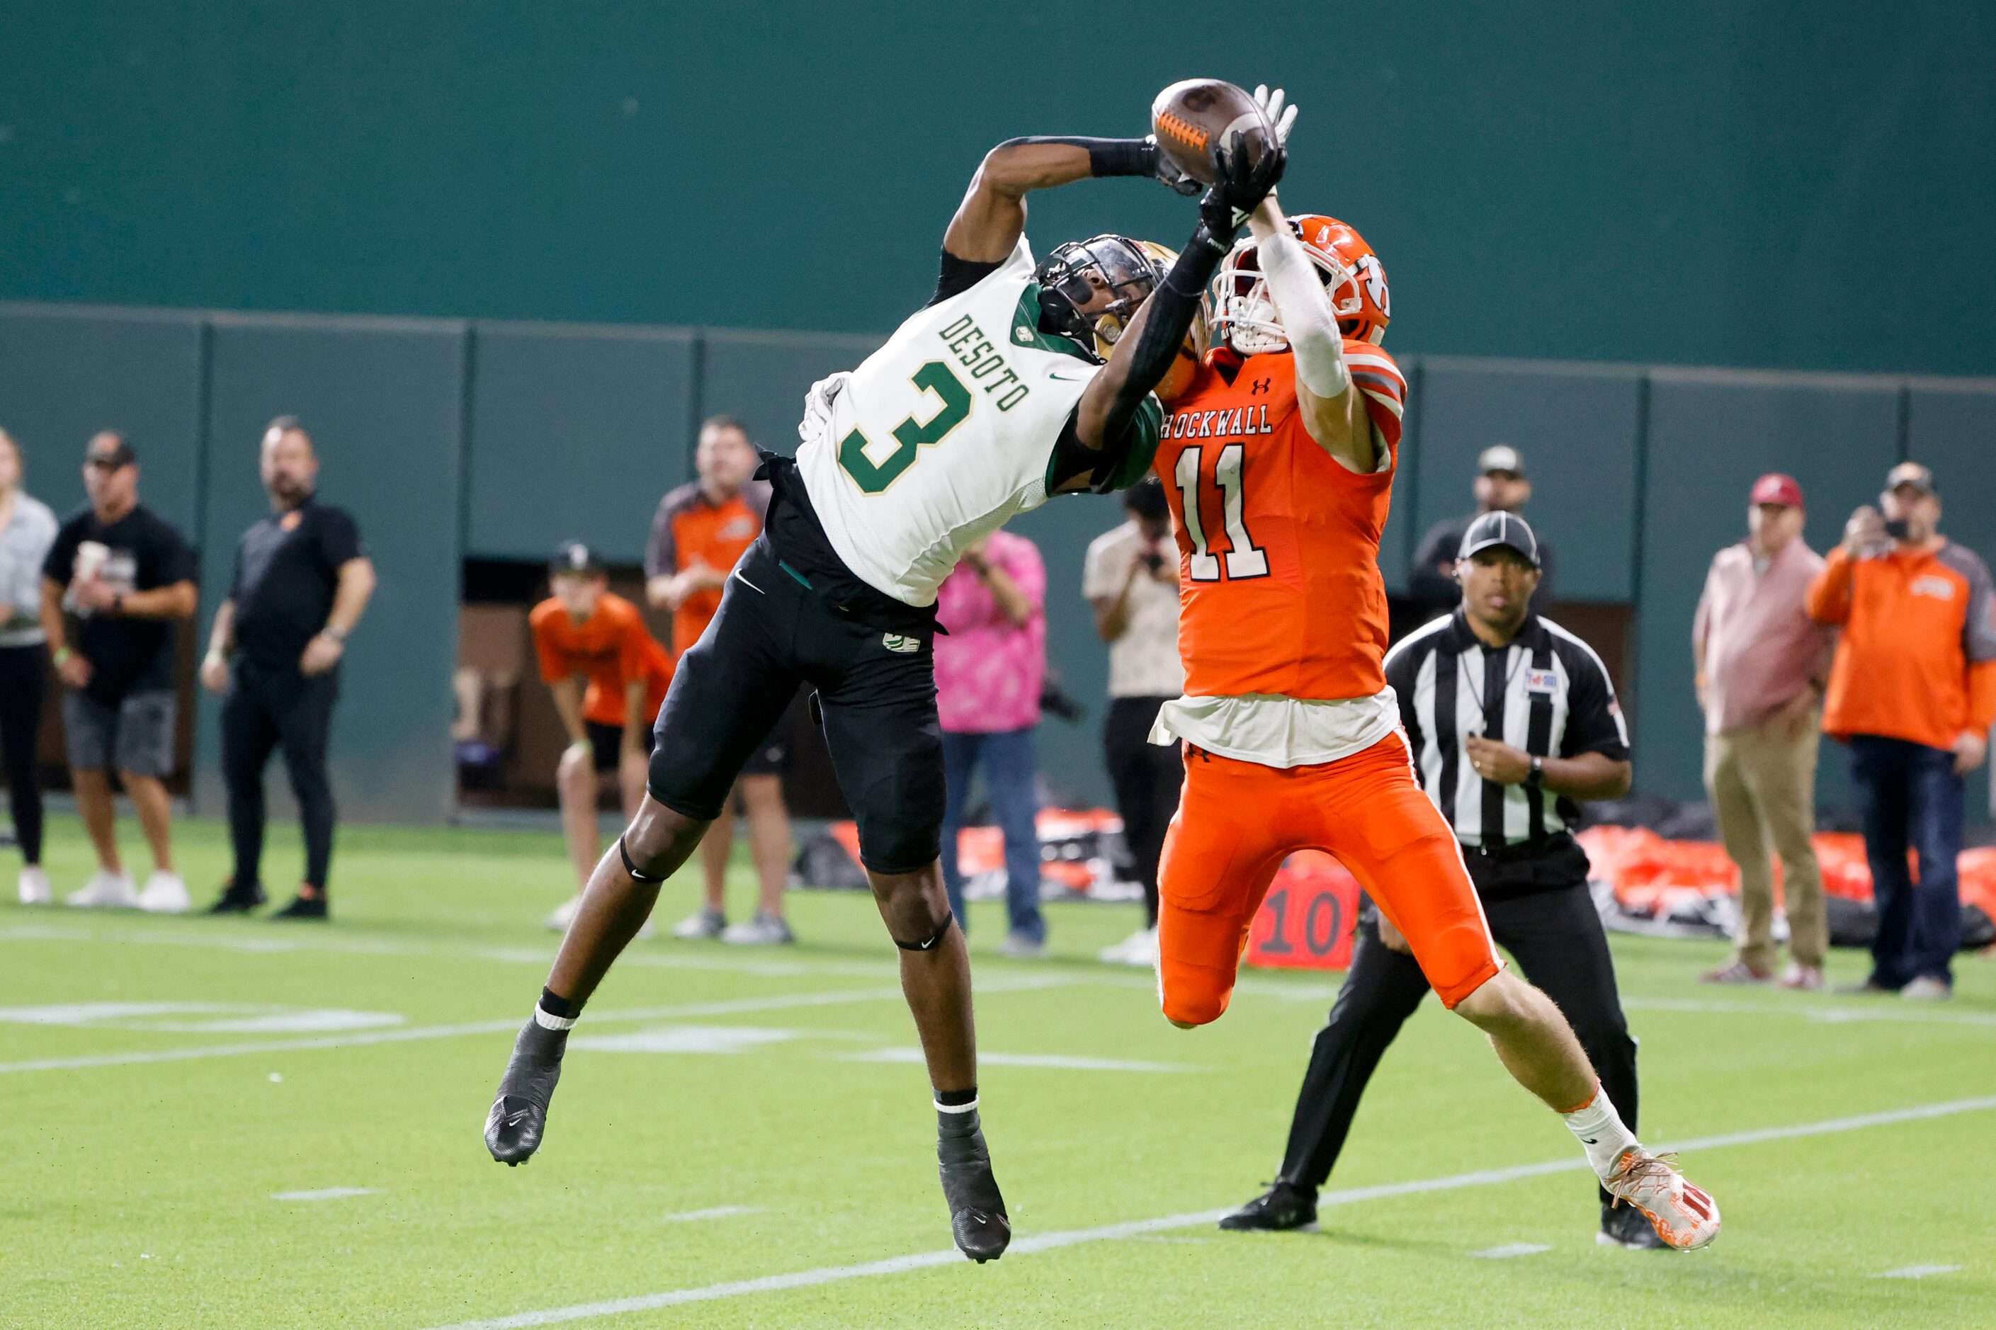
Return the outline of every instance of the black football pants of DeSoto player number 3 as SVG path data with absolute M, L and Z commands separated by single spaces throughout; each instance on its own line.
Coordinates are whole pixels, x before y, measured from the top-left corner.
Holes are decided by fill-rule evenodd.
M 832 775 L 860 831 L 860 863 L 912 873 L 942 853 L 942 725 L 928 635 L 866 625 L 756 539 L 721 609 L 679 657 L 659 709 L 651 797 L 713 821 L 798 687 L 812 687 Z

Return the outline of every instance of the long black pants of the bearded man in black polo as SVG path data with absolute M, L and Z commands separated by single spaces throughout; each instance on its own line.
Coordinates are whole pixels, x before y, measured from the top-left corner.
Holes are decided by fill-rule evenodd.
M 236 663 L 236 685 L 222 705 L 222 777 L 230 787 L 230 841 L 236 847 L 234 885 L 248 891 L 263 865 L 263 767 L 283 749 L 283 767 L 297 797 L 305 833 L 305 885 L 325 891 L 333 863 L 333 787 L 325 777 L 325 745 L 333 725 L 339 671 L 305 677 L 295 665 L 265 669 Z

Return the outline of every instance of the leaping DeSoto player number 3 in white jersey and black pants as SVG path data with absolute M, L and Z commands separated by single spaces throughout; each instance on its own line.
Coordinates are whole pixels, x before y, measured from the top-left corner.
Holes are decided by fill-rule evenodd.
M 1170 272 L 1120 236 L 1098 238 L 1100 252 L 1064 246 L 1036 268 L 1024 244 L 1028 192 L 1088 176 L 1198 186 L 1148 140 L 1000 144 L 944 234 L 934 300 L 858 369 L 806 395 L 796 461 L 764 457 L 768 523 L 679 661 L 645 803 L 589 879 L 513 1044 L 485 1118 L 495 1160 L 519 1164 L 541 1146 L 569 1028 L 651 915 L 659 883 L 693 855 L 748 755 L 808 685 L 874 903 L 900 949 L 952 1236 L 972 1260 L 1004 1252 L 1012 1228 L 978 1118 L 970 955 L 940 869 L 936 587 L 1006 517 L 1056 493 L 1124 489 L 1150 469 L 1164 415 L 1150 389 L 1178 359 L 1236 218 L 1283 166 L 1279 144 L 1255 160 L 1220 158 L 1222 184 L 1206 192 L 1200 228 Z M 1112 343 L 1106 363 L 1098 341 Z

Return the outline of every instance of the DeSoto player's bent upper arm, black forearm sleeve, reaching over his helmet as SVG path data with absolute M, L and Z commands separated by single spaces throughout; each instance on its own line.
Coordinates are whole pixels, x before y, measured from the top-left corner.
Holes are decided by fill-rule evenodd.
M 1002 264 L 1026 234 L 1028 194 L 1092 176 L 1152 176 L 1180 192 L 1186 180 L 1150 138 L 1010 138 L 984 154 L 942 248 L 970 264 Z

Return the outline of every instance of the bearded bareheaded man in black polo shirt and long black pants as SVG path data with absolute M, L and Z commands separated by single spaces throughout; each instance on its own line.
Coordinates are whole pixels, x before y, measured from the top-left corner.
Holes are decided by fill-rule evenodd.
M 273 747 L 297 795 L 305 833 L 305 879 L 273 919 L 325 919 L 325 875 L 333 859 L 333 789 L 325 741 L 339 695 L 339 657 L 373 595 L 373 563 L 361 531 L 341 509 L 313 499 L 319 457 L 291 415 L 263 431 L 263 489 L 271 515 L 244 531 L 230 599 L 202 661 L 202 683 L 226 695 L 222 775 L 230 787 L 236 871 L 210 913 L 263 905 L 263 767 Z M 232 679 L 234 663 L 234 679 Z

